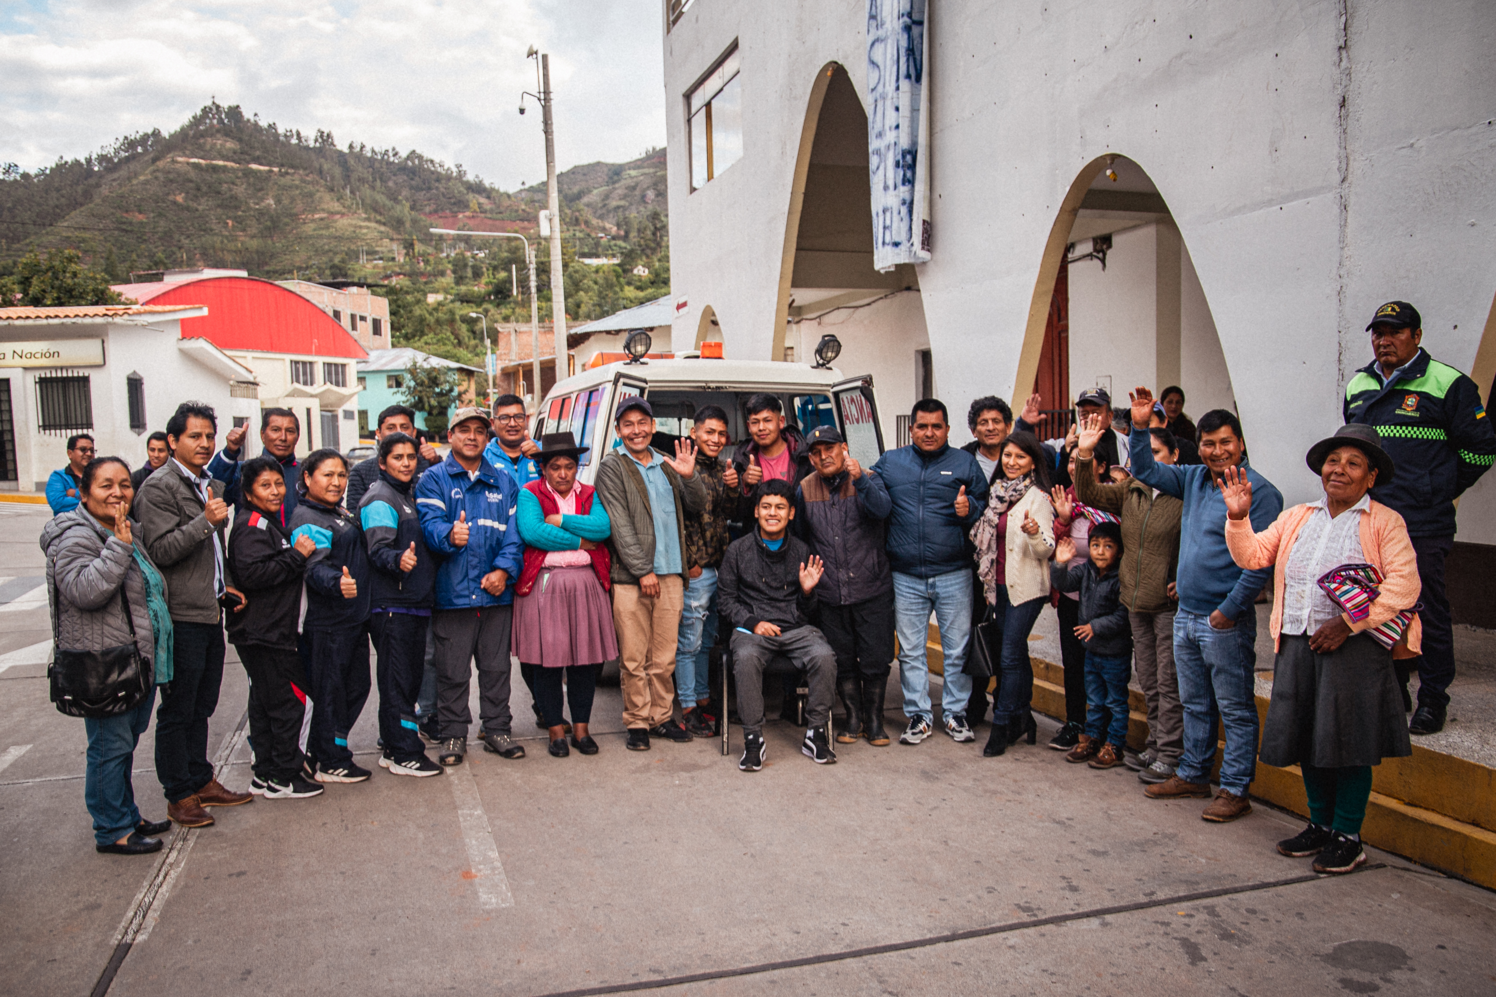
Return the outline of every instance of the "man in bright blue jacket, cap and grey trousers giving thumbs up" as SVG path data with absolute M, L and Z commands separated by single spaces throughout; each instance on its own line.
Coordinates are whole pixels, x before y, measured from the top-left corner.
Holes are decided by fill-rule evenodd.
M 509 626 L 524 543 L 515 525 L 519 487 L 483 459 L 488 416 L 459 408 L 447 433 L 452 453 L 416 484 L 416 511 L 426 547 L 441 559 L 431 632 L 437 641 L 437 725 L 443 765 L 459 765 L 473 722 L 468 710 L 477 658 L 479 738 L 501 758 L 524 758 L 512 737 Z

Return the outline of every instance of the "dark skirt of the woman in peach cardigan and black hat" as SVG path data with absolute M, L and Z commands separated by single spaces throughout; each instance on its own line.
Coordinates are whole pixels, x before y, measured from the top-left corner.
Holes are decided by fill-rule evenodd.
M 1391 650 L 1366 634 L 1330 655 L 1312 652 L 1303 634 L 1281 638 L 1264 764 L 1346 768 L 1411 753 Z

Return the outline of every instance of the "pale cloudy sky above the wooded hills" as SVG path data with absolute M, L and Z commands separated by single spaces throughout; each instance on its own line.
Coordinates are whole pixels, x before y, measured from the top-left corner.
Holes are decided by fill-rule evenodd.
M 171 132 L 217 97 L 513 190 L 545 179 L 525 49 L 551 54 L 560 167 L 622 161 L 664 143 L 660 22 L 660 0 L 0 0 L 0 161 Z

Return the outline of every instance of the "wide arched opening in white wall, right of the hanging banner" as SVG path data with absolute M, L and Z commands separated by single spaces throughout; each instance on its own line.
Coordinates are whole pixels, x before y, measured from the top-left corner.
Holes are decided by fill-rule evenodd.
M 1168 205 L 1141 166 L 1109 154 L 1080 170 L 1050 229 L 1014 408 L 1038 392 L 1046 435 L 1064 435 L 1076 395 L 1104 387 L 1122 407 L 1138 384 L 1155 395 L 1182 387 L 1194 416 L 1236 411 L 1215 318 Z

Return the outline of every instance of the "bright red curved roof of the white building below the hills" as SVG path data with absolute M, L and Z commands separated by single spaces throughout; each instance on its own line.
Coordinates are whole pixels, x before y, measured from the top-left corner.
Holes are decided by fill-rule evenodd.
M 320 357 L 368 356 L 347 329 L 293 290 L 256 277 L 200 277 L 156 284 L 115 284 L 142 305 L 205 305 L 202 318 L 183 320 L 183 339 L 202 338 L 220 350 L 299 353 Z

